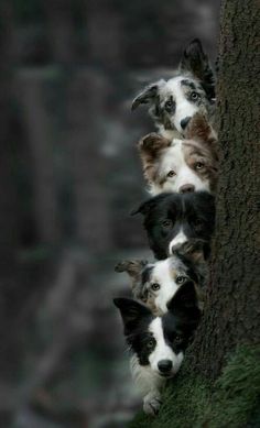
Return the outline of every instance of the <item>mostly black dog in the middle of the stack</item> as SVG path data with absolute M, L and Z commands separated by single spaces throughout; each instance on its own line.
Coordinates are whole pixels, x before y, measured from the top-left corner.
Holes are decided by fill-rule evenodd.
M 158 260 L 167 259 L 176 246 L 202 239 L 205 259 L 215 224 L 215 199 L 207 191 L 164 193 L 150 198 L 131 212 L 144 216 L 149 245 Z

